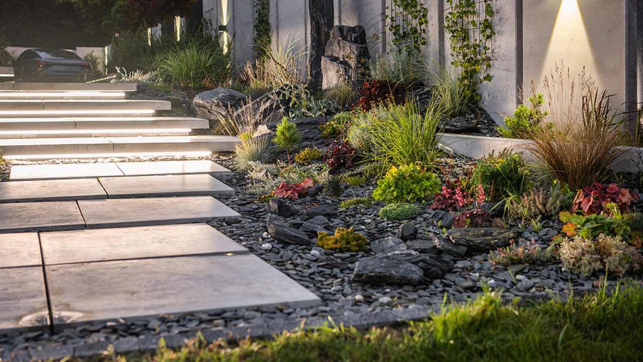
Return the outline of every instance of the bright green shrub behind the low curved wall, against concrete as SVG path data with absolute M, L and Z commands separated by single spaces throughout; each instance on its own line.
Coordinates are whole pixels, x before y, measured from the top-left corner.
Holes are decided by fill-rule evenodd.
M 498 132 L 503 137 L 532 138 L 534 131 L 541 128 L 541 123 L 544 122 L 543 119 L 549 115 L 547 111 L 541 109 L 545 103 L 543 93 L 536 93 L 536 95 L 532 95 L 527 100 L 531 103 L 531 107 L 520 104 L 514 111 L 514 117 L 505 118 L 507 128 L 498 127 Z M 554 124 L 550 122 L 545 124 L 544 127 L 545 129 L 552 129 Z

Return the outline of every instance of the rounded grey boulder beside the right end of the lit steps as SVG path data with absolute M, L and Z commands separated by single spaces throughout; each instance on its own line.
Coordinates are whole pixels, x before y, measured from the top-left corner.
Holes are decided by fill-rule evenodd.
M 192 111 L 197 118 L 210 120 L 210 127 L 219 120 L 230 116 L 230 111 L 238 110 L 246 95 L 228 88 L 215 88 L 202 91 L 192 101 Z

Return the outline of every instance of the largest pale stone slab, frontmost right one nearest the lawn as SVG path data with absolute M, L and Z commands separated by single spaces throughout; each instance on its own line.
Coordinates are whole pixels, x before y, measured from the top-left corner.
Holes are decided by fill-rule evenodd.
M 53 265 L 46 271 L 53 314 L 68 323 L 320 301 L 253 254 Z

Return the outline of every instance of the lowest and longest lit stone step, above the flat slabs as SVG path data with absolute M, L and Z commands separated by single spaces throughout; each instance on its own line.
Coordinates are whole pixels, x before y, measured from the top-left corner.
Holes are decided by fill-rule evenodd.
M 115 157 L 116 155 L 207 155 L 234 149 L 230 136 L 70 137 L 1 139 L 9 159 Z

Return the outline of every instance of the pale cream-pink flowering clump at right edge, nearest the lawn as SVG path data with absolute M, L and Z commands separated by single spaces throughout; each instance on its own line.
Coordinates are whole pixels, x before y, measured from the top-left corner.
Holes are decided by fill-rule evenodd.
M 558 256 L 570 271 L 590 276 L 594 271 L 622 276 L 640 271 L 643 258 L 637 247 L 624 242 L 621 236 L 599 234 L 586 239 L 575 236 L 561 242 Z

